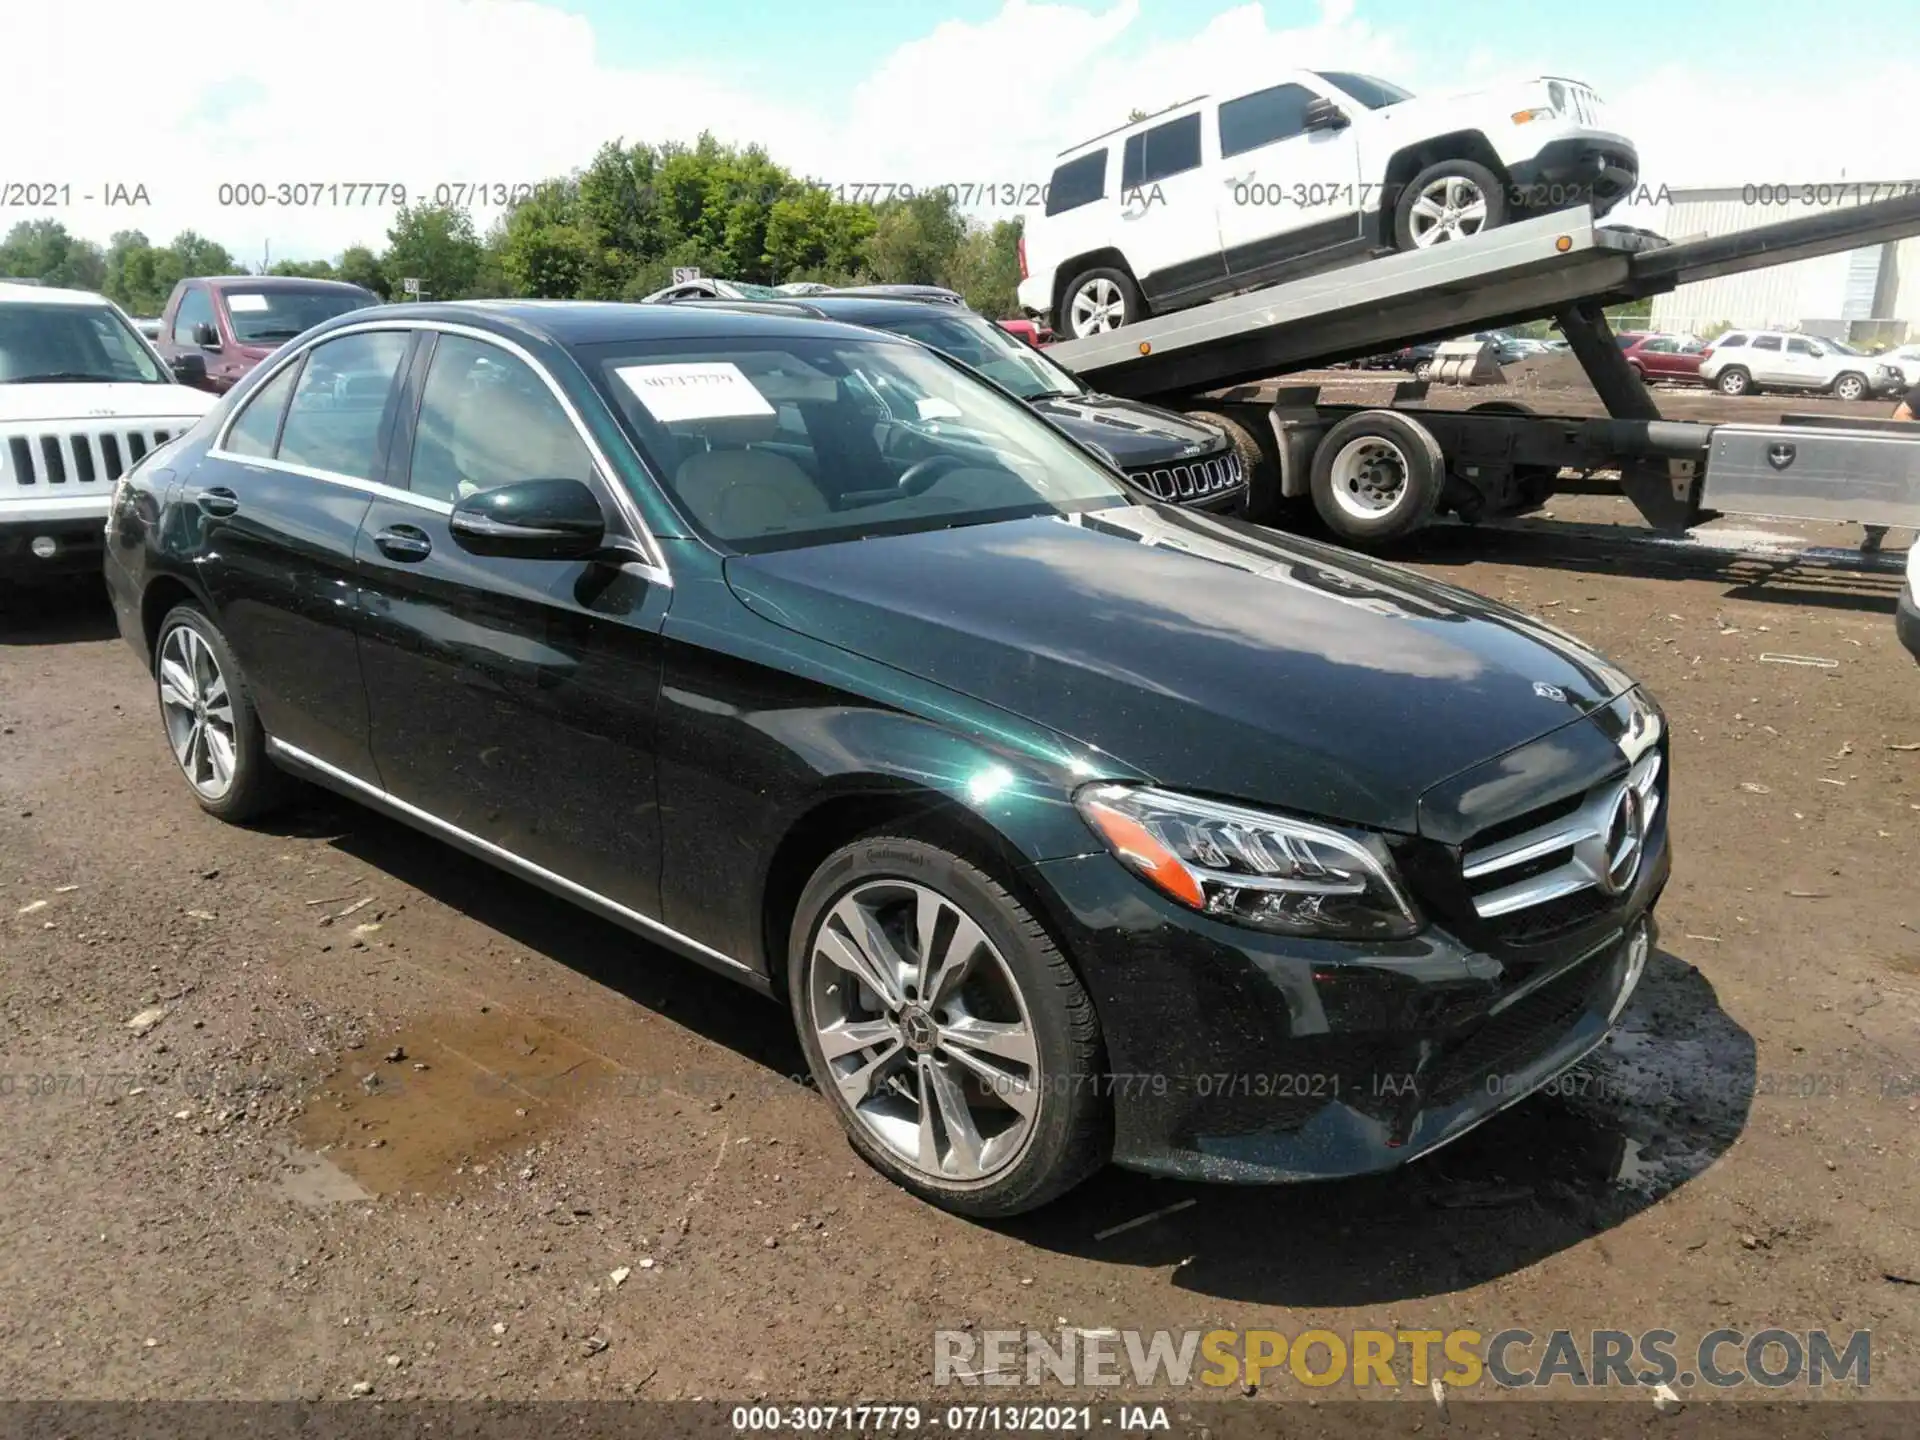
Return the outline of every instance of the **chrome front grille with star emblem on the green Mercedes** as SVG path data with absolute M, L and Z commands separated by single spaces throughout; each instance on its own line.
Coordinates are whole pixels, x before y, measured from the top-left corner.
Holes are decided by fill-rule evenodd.
M 1661 749 L 1649 741 L 1626 780 L 1596 785 L 1571 806 L 1542 812 L 1538 824 L 1469 847 L 1461 876 L 1480 920 L 1588 891 L 1603 902 L 1630 889 L 1661 808 Z

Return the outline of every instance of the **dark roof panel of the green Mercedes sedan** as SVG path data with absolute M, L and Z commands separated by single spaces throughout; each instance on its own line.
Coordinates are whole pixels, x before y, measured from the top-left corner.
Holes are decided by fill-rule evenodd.
M 351 311 L 328 321 L 324 328 L 348 328 L 397 321 L 442 321 L 472 324 L 501 336 L 536 336 L 557 346 L 618 344 L 622 340 L 699 340 L 703 336 L 820 338 L 822 323 L 799 307 L 820 300 L 764 301 L 768 309 L 749 309 L 753 301 L 685 301 L 678 305 L 641 305 L 618 300 L 449 300 L 415 305 L 382 305 L 376 317 Z M 793 305 L 776 311 L 774 305 Z M 852 324 L 833 324 L 849 340 L 872 338 L 872 332 Z

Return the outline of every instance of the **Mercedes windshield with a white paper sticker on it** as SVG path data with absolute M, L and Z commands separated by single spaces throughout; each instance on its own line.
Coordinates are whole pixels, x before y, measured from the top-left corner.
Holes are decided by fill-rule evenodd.
M 701 338 L 580 357 L 680 513 L 728 549 L 1131 503 L 1025 405 L 904 342 Z

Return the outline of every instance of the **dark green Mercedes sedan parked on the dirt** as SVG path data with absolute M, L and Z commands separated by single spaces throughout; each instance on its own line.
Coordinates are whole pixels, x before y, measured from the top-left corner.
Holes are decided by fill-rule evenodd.
M 975 1215 L 1421 1156 L 1601 1043 L 1668 874 L 1576 641 L 820 319 L 344 315 L 117 484 L 108 580 L 205 810 L 317 781 L 781 998 Z

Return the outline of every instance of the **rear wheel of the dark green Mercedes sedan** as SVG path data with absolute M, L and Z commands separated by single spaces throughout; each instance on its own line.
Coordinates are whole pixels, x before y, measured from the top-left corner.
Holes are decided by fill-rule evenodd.
M 154 687 L 173 760 L 202 810 L 240 824 L 286 797 L 240 662 L 198 607 L 175 605 L 159 622 Z

